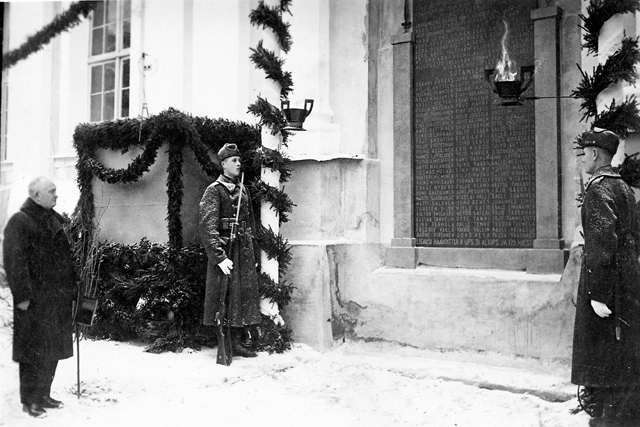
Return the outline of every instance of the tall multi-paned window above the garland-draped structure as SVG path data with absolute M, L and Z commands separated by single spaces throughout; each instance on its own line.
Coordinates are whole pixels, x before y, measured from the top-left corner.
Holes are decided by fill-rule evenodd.
M 91 22 L 90 120 L 129 116 L 131 2 L 99 2 Z

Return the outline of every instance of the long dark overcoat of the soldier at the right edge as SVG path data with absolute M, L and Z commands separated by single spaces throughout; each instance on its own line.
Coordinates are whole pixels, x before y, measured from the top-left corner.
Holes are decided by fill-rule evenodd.
M 637 213 L 633 192 L 610 166 L 598 169 L 586 185 L 582 226 L 571 382 L 587 387 L 640 384 Z M 599 317 L 591 300 L 613 313 Z

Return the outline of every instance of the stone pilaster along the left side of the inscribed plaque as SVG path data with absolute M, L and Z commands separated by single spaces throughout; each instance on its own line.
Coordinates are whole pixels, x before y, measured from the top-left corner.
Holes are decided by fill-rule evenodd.
M 413 32 L 391 36 L 393 46 L 393 239 L 388 267 L 415 268 L 413 233 Z

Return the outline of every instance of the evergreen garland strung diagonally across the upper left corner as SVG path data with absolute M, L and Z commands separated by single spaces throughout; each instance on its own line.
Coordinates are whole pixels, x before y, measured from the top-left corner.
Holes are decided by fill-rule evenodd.
M 68 31 L 78 25 L 82 20 L 81 17 L 86 18 L 89 13 L 95 9 L 97 3 L 98 2 L 96 1 L 80 1 L 72 3 L 66 12 L 57 15 L 51 23 L 46 25 L 36 34 L 29 36 L 27 41 L 19 48 L 2 55 L 2 70 L 4 71 L 13 67 L 19 61 L 22 61 L 41 50 L 58 34 L 63 31 Z

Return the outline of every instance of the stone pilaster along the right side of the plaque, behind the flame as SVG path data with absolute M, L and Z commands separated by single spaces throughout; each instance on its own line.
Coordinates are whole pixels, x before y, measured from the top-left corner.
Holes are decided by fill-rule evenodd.
M 535 94 L 560 96 L 560 18 L 557 6 L 534 9 Z M 536 121 L 536 239 L 527 261 L 527 272 L 562 271 L 560 199 L 560 99 L 535 101 Z

